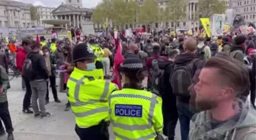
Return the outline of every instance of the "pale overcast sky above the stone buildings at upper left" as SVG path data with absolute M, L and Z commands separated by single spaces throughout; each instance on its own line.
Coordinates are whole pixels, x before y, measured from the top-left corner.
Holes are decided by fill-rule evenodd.
M 42 5 L 47 7 L 58 7 L 66 0 L 15 0 L 18 2 L 32 3 L 33 5 Z M 94 8 L 101 0 L 82 0 L 85 8 Z

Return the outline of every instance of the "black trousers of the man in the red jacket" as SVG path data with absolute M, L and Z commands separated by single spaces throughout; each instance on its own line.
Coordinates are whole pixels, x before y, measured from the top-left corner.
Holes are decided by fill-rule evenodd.
M 28 109 L 30 106 L 31 95 L 32 95 L 30 81 L 24 76 L 22 76 L 22 79 L 24 80 L 25 86 L 26 86 L 26 93 L 23 99 L 23 109 Z

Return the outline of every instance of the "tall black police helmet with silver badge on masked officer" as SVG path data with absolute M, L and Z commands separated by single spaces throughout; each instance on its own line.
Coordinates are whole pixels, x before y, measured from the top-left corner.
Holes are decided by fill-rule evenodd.
M 96 58 L 96 56 L 94 55 L 94 51 L 85 43 L 75 45 L 72 54 L 74 63 L 76 61 L 94 60 Z

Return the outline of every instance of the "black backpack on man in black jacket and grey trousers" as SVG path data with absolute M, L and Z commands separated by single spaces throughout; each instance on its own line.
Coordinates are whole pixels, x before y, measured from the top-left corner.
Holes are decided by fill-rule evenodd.
M 23 76 L 29 80 L 34 78 L 34 70 L 30 58 L 26 58 L 22 67 Z

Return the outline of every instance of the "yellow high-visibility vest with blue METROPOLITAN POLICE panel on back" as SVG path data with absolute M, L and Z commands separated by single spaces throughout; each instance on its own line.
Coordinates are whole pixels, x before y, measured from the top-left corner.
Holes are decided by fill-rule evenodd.
M 162 98 L 151 92 L 123 89 L 110 95 L 110 122 L 116 139 L 155 140 L 162 133 Z

